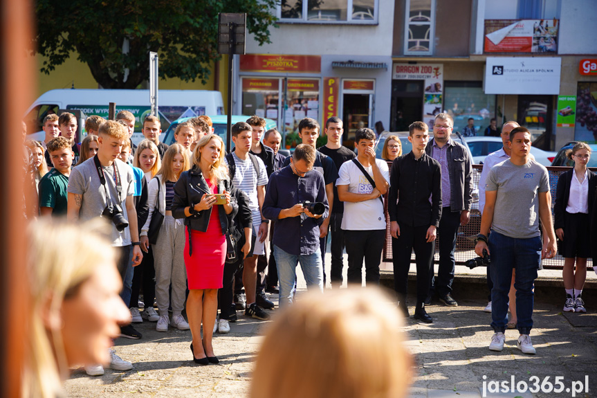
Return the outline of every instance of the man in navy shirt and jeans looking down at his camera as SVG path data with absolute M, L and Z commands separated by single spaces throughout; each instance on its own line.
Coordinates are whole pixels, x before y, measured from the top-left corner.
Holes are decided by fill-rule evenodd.
M 323 291 L 320 226 L 329 213 L 324 177 L 313 170 L 315 148 L 297 145 L 290 165 L 274 172 L 264 200 L 264 217 L 276 221 L 274 256 L 279 305 L 293 302 L 300 262 L 308 289 Z

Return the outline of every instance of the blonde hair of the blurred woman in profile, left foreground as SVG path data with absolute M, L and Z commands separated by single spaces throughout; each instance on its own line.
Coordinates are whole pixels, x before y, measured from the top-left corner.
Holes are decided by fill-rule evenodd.
M 116 264 L 109 227 L 101 219 L 85 224 L 66 224 L 40 219 L 28 226 L 27 273 L 30 287 L 26 356 L 21 378 L 21 397 L 55 398 L 68 377 L 64 341 L 59 329 L 48 327 L 46 316 L 58 314 L 62 302 L 77 295 L 98 264 Z M 66 239 L 66 241 L 64 240 Z M 68 250 L 64 248 L 68 242 Z

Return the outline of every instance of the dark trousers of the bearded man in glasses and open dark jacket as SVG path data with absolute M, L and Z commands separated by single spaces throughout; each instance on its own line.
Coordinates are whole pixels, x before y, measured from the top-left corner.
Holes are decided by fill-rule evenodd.
M 431 272 L 430 293 L 438 293 L 445 296 L 452 293 L 452 282 L 454 282 L 454 270 L 456 269 L 456 260 L 454 251 L 456 251 L 456 237 L 460 226 L 460 212 L 450 211 L 450 206 L 443 208 L 439 228 L 437 228 L 437 238 L 439 239 L 439 267 L 437 277 Z

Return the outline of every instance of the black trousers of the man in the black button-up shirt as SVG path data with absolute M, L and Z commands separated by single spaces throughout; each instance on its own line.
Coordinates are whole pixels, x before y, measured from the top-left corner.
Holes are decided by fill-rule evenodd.
M 414 249 L 416 257 L 416 303 L 425 302 L 429 294 L 429 278 L 433 264 L 435 242 L 427 242 L 425 235 L 429 226 L 400 226 L 398 239 L 392 238 L 394 257 L 394 289 L 401 301 L 405 300 L 408 288 L 410 255 Z

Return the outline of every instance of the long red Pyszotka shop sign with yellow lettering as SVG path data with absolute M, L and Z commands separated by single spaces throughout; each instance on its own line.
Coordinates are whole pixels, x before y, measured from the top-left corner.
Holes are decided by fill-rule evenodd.
M 241 71 L 315 72 L 321 71 L 320 55 L 241 55 Z

